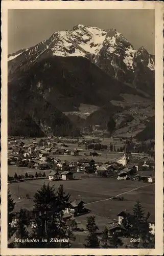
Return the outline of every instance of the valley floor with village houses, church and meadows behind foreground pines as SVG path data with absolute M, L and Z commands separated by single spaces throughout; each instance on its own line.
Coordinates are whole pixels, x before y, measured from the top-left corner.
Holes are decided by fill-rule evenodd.
M 76 223 L 73 248 L 83 248 L 88 234 L 86 222 L 95 218 L 101 243 L 103 230 L 119 232 L 123 248 L 131 248 L 122 224 L 132 214 L 136 202 L 148 214 L 150 233 L 155 234 L 154 142 L 133 138 L 8 138 L 8 187 L 15 211 L 32 212 L 34 195 L 43 185 L 63 186 L 69 198 L 63 218 Z M 35 218 L 30 228 L 35 228 Z M 71 225 L 71 224 L 69 224 Z M 17 226 L 17 218 L 10 227 Z M 14 236 L 10 238 L 13 242 Z

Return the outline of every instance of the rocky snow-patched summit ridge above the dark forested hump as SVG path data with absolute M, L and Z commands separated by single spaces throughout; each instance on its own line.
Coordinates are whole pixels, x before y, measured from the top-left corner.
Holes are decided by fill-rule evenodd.
M 134 84 L 139 89 L 144 76 L 143 91 L 147 91 L 150 80 L 150 87 L 154 85 L 154 56 L 148 52 L 140 54 L 140 49 L 134 50 L 130 42 L 115 29 L 104 30 L 84 25 L 55 32 L 34 47 L 10 54 L 9 74 L 25 70 L 36 61 L 52 56 L 88 58 L 110 76 Z

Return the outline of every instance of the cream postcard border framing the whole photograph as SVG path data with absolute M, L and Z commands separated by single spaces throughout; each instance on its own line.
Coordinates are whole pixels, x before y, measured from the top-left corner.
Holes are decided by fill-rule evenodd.
M 7 248 L 7 11 L 8 9 L 155 9 L 155 249 Z M 160 1 L 2 1 L 1 255 L 163 254 L 163 3 Z

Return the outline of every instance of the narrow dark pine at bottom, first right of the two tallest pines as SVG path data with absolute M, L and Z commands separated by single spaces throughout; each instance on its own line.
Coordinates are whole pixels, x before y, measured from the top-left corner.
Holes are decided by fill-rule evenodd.
M 97 237 L 98 226 L 95 223 L 95 216 L 87 217 L 86 228 L 88 230 L 86 248 L 99 248 L 99 240 Z

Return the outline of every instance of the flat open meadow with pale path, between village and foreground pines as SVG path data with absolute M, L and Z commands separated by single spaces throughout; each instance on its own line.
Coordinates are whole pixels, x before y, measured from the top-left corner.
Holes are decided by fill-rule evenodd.
M 33 201 L 31 199 L 44 182 L 48 184 L 49 180 L 31 180 L 9 184 L 12 197 L 16 201 L 15 210 L 20 209 L 20 207 L 32 209 Z M 97 216 L 118 219 L 119 212 L 125 209 L 130 210 L 137 199 L 143 204 L 145 212 L 150 211 L 152 215 L 155 212 L 155 188 L 154 184 L 151 183 L 92 177 L 81 180 L 52 181 L 51 184 L 55 185 L 56 189 L 60 184 L 63 184 L 66 192 L 71 194 L 72 200 L 83 200 L 91 213 Z M 136 188 L 137 190 L 135 190 Z M 31 199 L 21 198 L 26 197 L 27 194 Z M 117 195 L 123 196 L 124 200 L 111 199 Z M 85 221 L 86 215 L 77 218 Z

